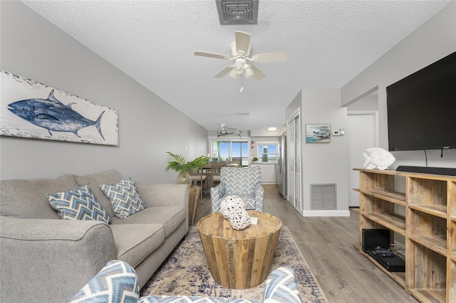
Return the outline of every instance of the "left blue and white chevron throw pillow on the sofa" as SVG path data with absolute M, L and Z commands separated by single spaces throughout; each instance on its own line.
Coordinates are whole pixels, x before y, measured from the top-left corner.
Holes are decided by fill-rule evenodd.
M 98 204 L 90 187 L 83 186 L 63 193 L 46 194 L 51 207 L 58 211 L 62 219 L 97 220 L 110 223 L 108 213 Z

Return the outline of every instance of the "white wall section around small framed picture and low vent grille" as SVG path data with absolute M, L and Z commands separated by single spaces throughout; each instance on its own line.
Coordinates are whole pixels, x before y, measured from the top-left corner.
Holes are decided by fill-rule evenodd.
M 331 131 L 347 125 L 346 107 L 338 89 L 301 90 L 286 109 L 301 113 L 301 206 L 303 216 L 350 216 L 348 211 L 348 139 L 331 136 L 330 143 L 307 144 L 306 124 L 331 124 Z M 337 209 L 311 210 L 311 184 L 336 184 Z

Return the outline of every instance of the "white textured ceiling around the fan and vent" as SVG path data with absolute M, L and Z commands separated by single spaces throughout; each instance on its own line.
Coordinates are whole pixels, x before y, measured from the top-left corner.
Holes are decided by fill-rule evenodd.
M 339 88 L 450 1 L 259 1 L 258 23 L 222 26 L 214 0 L 21 0 L 206 129 L 285 124 L 304 88 Z M 263 80 L 214 78 L 231 61 L 234 31 L 252 53 L 286 50 L 286 63 L 257 63 Z M 239 115 L 239 113 L 249 115 Z

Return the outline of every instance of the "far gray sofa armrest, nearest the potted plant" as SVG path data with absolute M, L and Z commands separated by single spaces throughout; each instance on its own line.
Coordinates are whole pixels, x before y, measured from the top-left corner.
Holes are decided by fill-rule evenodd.
M 135 182 L 135 186 L 147 207 L 188 207 L 189 188 L 185 184 L 142 184 Z

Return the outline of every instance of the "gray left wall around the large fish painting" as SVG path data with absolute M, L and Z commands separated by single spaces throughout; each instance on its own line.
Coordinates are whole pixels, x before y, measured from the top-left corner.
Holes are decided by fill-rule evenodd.
M 207 130 L 165 100 L 21 2 L 0 1 L 0 11 L 1 69 L 119 112 L 118 147 L 0 137 L 1 179 L 115 168 L 136 181 L 174 183 L 165 151 L 207 154 Z

